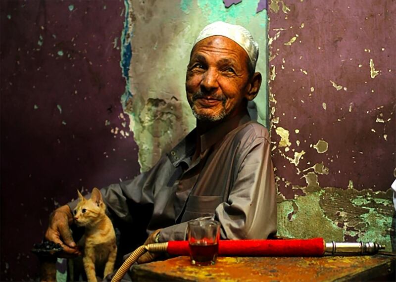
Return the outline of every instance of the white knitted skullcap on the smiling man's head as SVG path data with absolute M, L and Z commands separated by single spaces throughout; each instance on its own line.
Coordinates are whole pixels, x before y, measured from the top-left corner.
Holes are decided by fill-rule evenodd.
M 254 41 L 252 35 L 246 28 L 240 25 L 234 25 L 220 21 L 211 23 L 201 30 L 194 42 L 194 46 L 202 39 L 214 35 L 225 36 L 244 48 L 244 50 L 247 52 L 247 55 L 249 56 L 253 69 L 255 69 L 258 58 L 258 44 Z

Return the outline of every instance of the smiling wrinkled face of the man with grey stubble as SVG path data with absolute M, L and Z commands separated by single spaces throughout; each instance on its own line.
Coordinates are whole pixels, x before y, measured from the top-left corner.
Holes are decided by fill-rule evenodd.
M 211 36 L 193 48 L 187 68 L 186 92 L 201 121 L 219 121 L 244 110 L 249 74 L 246 51 L 223 36 Z

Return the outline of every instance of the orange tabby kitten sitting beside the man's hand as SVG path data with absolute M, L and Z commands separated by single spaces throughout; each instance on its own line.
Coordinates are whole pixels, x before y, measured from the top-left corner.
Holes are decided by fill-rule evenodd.
M 78 192 L 80 202 L 73 211 L 77 226 L 85 226 L 84 269 L 88 281 L 97 281 L 95 265 L 104 263 L 104 277 L 114 269 L 117 246 L 115 232 L 110 219 L 105 214 L 106 206 L 98 188 L 92 190 L 91 198 L 85 199 Z

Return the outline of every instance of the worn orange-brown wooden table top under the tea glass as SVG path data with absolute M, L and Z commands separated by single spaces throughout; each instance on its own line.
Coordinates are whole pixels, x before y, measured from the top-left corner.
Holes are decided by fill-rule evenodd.
M 192 266 L 180 256 L 134 266 L 133 281 L 396 281 L 396 257 L 219 257 L 213 266 Z

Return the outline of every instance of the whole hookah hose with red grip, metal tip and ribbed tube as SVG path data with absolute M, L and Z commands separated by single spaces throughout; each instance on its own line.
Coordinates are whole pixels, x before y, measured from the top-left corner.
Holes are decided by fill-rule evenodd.
M 385 246 L 368 242 L 326 243 L 323 238 L 284 240 L 220 240 L 219 256 L 288 256 L 321 257 L 324 255 L 371 255 Z M 169 241 L 137 248 L 117 270 L 111 282 L 119 282 L 128 269 L 145 252 L 167 252 L 170 255 L 190 255 L 188 241 Z

